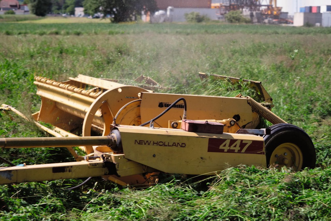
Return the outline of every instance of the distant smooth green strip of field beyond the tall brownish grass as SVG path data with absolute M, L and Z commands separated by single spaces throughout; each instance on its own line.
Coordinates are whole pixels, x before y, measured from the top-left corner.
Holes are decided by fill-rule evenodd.
M 63 21 L 63 22 L 62 22 Z M 71 21 L 79 21 L 72 23 Z M 58 23 L 59 22 L 59 23 Z M 62 23 L 60 23 L 62 22 Z M 86 23 L 85 23 L 86 22 Z M 100 23 L 100 24 L 98 24 Z M 330 28 L 322 27 L 289 27 L 269 25 L 230 25 L 226 23 L 207 24 L 144 24 L 130 22 L 125 24 L 111 24 L 108 19 L 87 18 L 44 18 L 37 21 L 18 23 L 0 23 L 0 33 L 5 35 L 116 35 L 116 34 L 231 34 L 242 33 L 247 35 L 307 35 L 331 34 Z M 65 24 L 65 25 L 64 25 Z M 293 36 L 292 36 L 293 37 Z

